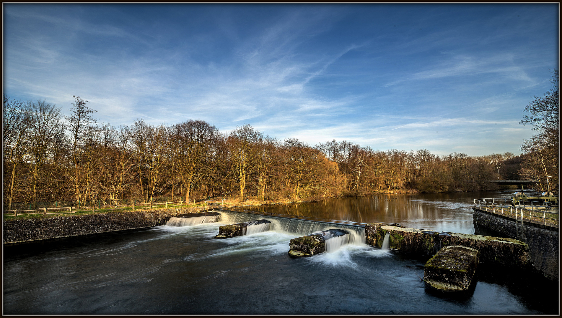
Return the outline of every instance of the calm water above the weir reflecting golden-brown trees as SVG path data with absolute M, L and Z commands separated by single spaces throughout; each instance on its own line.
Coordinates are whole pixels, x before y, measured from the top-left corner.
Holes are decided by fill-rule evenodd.
M 474 199 L 508 198 L 514 190 L 457 193 L 375 194 L 319 202 L 262 205 L 252 211 L 350 222 L 400 223 L 402 226 L 457 233 L 475 232 Z

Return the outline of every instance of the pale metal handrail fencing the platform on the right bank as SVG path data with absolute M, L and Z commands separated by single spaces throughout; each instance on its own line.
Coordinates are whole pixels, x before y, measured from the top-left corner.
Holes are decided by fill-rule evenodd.
M 509 216 L 511 216 L 512 218 L 514 217 L 513 213 L 515 213 L 515 217 L 514 217 L 515 221 L 529 221 L 529 222 L 538 223 L 537 221 L 533 221 L 533 217 L 542 219 L 543 220 L 542 223 L 544 223 L 545 225 L 547 223 L 546 220 L 556 221 L 556 222 L 549 222 L 549 223 L 556 223 L 555 226 L 558 227 L 558 214 L 559 214 L 558 210 L 556 210 L 557 212 L 551 212 L 548 211 L 548 209 L 524 209 L 520 207 L 515 207 L 514 205 L 498 204 L 499 202 L 502 202 L 502 200 L 503 203 L 507 203 L 507 202 L 511 203 L 511 199 L 506 199 L 506 198 L 474 199 L 474 207 L 478 207 L 481 209 L 483 208 L 486 211 L 488 211 L 488 209 L 491 209 L 492 210 L 491 212 L 497 214 L 501 213 L 502 215 L 509 213 Z M 540 216 L 541 213 L 542 216 Z M 546 213 L 554 214 L 556 218 L 550 218 L 550 217 L 547 218 Z

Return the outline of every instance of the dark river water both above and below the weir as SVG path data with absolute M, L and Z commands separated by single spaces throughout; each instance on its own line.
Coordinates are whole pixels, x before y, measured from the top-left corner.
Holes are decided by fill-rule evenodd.
M 256 211 L 474 233 L 473 199 L 510 191 L 373 195 Z M 397 199 L 393 199 L 397 198 Z M 220 219 L 219 219 L 220 222 Z M 3 314 L 551 314 L 534 292 L 478 280 L 450 297 L 425 287 L 423 265 L 357 244 L 288 257 L 294 235 L 217 240 L 223 223 L 158 226 L 4 246 Z

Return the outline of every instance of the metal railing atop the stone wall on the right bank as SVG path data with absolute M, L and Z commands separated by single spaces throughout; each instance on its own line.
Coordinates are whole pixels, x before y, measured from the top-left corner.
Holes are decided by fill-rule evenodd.
M 509 203 L 509 205 L 505 203 Z M 536 205 L 534 205 L 534 207 L 536 207 Z M 515 218 L 515 221 L 529 221 L 543 223 L 545 225 L 548 223 L 548 225 L 558 227 L 558 209 L 529 209 L 527 208 L 528 206 L 529 205 L 525 205 L 525 208 L 516 207 L 511 205 L 511 199 L 507 198 L 474 199 L 474 207 L 504 216 L 510 216 Z M 531 205 L 531 207 L 533 207 L 533 205 Z

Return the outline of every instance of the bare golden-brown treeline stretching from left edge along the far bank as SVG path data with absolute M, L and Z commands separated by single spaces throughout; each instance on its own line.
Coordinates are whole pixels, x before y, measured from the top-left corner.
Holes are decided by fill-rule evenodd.
M 513 153 L 470 157 L 374 151 L 352 142 L 279 141 L 250 125 L 219 133 L 187 120 L 98 124 L 74 96 L 70 116 L 45 101 L 4 96 L 4 205 L 71 201 L 153 202 L 210 197 L 289 200 L 372 191 L 497 189 L 484 180 L 518 177 Z M 466 183 L 467 180 L 476 181 Z

